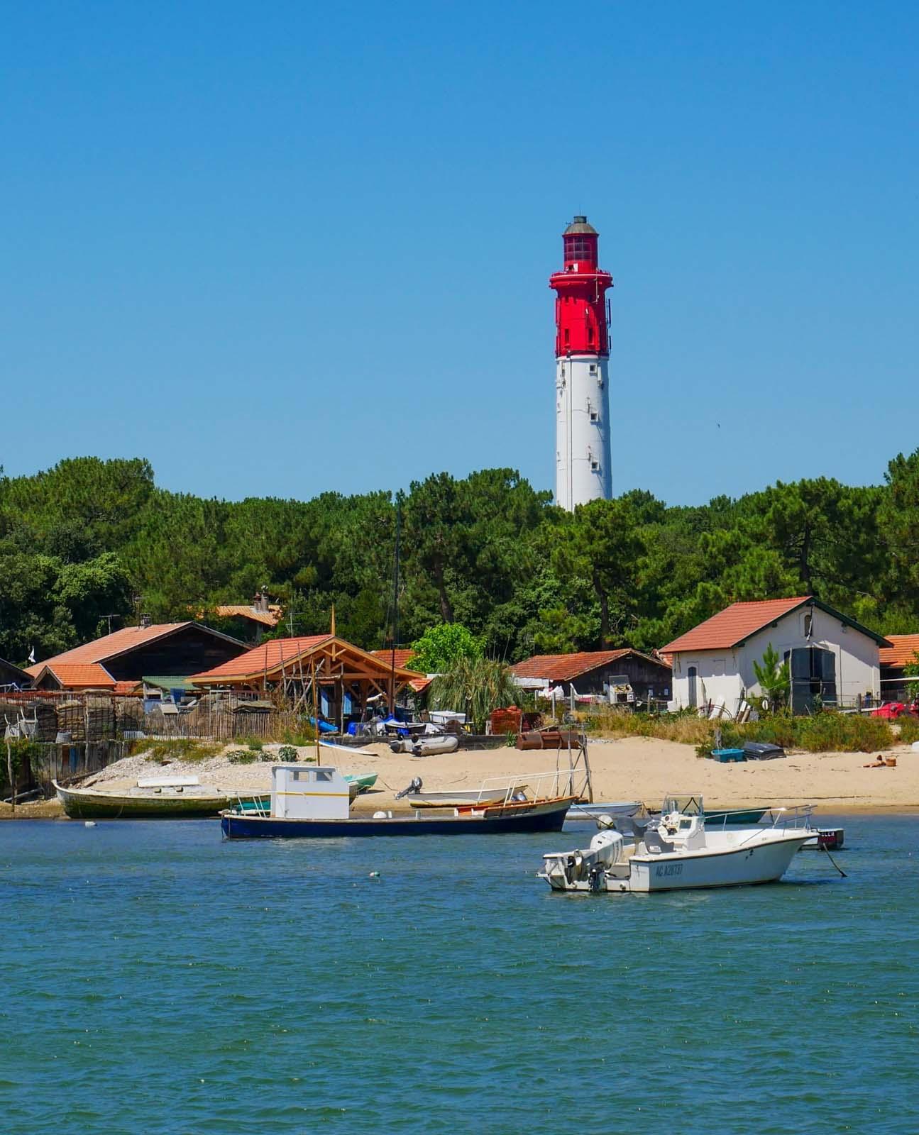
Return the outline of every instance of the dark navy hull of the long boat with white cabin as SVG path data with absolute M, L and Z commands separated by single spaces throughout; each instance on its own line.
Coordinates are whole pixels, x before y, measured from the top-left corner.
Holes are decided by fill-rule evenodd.
M 574 798 L 507 805 L 460 815 L 409 815 L 385 818 L 277 819 L 225 812 L 220 827 L 229 840 L 336 839 L 366 835 L 499 835 L 517 832 L 560 832 Z

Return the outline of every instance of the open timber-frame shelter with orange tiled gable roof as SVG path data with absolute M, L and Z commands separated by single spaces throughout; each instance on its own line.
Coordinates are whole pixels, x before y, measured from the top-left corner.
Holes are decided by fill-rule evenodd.
M 309 714 L 314 679 L 317 704 L 321 696 L 324 716 L 337 723 L 346 716 L 345 698 L 352 705 L 349 716 L 354 717 L 362 715 L 370 698 L 383 695 L 392 709 L 406 687 L 417 689 L 426 681 L 424 674 L 392 667 L 336 634 L 312 634 L 268 639 L 229 662 L 193 674 L 191 682 L 201 689 L 273 692 L 284 704 Z

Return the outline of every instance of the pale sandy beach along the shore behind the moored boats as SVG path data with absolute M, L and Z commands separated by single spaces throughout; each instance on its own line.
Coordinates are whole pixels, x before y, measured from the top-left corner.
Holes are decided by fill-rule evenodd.
M 312 748 L 300 749 L 303 757 L 314 753 Z M 778 760 L 722 765 L 700 759 L 688 745 L 635 737 L 591 741 L 588 755 L 595 800 L 642 800 L 659 807 L 666 792 L 701 792 L 707 806 L 813 804 L 834 813 L 919 808 L 919 753 L 909 746 L 887 750 L 897 757 L 894 768 L 866 768 L 872 757 L 863 753 L 801 753 Z M 555 754 L 501 748 L 412 757 L 394 754 L 386 745 L 373 745 L 352 755 L 336 753 L 332 763 L 345 773 L 378 774 L 375 789 L 354 805 L 373 812 L 401 807 L 395 793 L 415 776 L 421 777 L 428 791 L 477 788 L 488 776 L 512 775 L 526 781 L 527 774 L 552 772 Z M 269 763 L 231 765 L 218 756 L 161 765 L 142 753 L 110 765 L 90 783 L 117 790 L 131 787 L 137 776 L 157 774 L 197 775 L 202 784 L 243 792 L 270 788 Z M 8 816 L 9 806 L 2 809 Z M 56 801 L 17 808 L 17 815 L 24 817 L 59 812 Z

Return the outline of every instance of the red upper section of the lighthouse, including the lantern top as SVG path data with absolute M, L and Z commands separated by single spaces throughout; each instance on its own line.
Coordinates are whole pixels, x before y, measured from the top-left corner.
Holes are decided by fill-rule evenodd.
M 605 292 L 612 277 L 596 267 L 598 232 L 575 217 L 562 234 L 565 268 L 549 277 L 555 291 L 555 356 L 610 353 Z

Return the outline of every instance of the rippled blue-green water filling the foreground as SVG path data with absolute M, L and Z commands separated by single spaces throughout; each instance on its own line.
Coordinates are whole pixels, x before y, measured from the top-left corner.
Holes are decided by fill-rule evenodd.
M 550 892 L 569 833 L 0 824 L 0 1129 L 914 1135 L 919 818 L 844 823 L 653 897 Z

